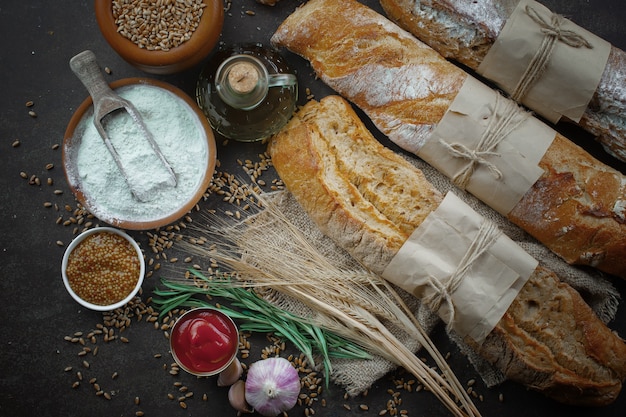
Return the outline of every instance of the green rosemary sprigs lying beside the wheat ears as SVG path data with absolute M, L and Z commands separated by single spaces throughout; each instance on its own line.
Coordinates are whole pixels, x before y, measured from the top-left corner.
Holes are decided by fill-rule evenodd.
M 314 354 L 322 358 L 326 385 L 332 372 L 331 358 L 369 359 L 371 355 L 358 344 L 331 331 L 320 328 L 306 319 L 283 310 L 259 297 L 252 289 L 232 282 L 225 274 L 208 278 L 191 270 L 196 280 L 162 279 L 164 288 L 154 291 L 152 302 L 163 316 L 180 307 L 214 307 L 206 297 L 228 300 L 231 307 L 220 305 L 220 311 L 238 321 L 242 331 L 274 333 L 291 342 L 315 366 Z M 200 283 L 201 285 L 198 285 Z

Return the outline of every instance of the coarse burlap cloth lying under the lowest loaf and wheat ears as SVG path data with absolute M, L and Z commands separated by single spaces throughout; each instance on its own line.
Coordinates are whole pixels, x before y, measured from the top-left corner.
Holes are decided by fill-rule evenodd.
M 457 196 L 469 204 L 474 210 L 487 219 L 494 221 L 500 229 L 511 239 L 523 247 L 530 255 L 535 257 L 540 264 L 554 271 L 562 281 L 569 283 L 576 288 L 591 308 L 605 323 L 608 323 L 617 311 L 620 300 L 619 292 L 606 280 L 600 272 L 576 268 L 568 265 L 563 260 L 555 256 L 542 244 L 538 243 L 534 238 L 529 236 L 519 227 L 513 225 L 504 216 L 492 210 L 484 203 L 477 200 L 472 195 L 465 193 L 456 188 L 450 180 L 437 172 L 434 168 L 423 162 L 421 159 L 407 156 L 415 167 L 422 170 L 429 181 L 443 194 L 453 191 Z M 294 197 L 288 191 L 279 191 L 264 195 L 264 200 L 269 204 L 274 204 L 285 214 L 287 219 L 307 236 L 317 250 L 331 259 L 337 266 L 345 268 L 361 268 L 352 257 L 342 248 L 334 244 L 334 242 L 323 235 L 316 225 L 310 220 L 306 212 L 298 205 Z M 262 213 L 259 214 L 256 225 L 260 226 L 259 221 L 262 220 Z M 414 314 L 427 331 L 432 329 L 439 323 L 439 318 L 431 313 L 426 307 L 422 306 L 419 301 L 407 293 L 399 290 L 404 295 L 405 300 L 414 311 Z M 304 314 L 306 316 L 306 308 L 299 302 L 290 300 L 285 297 L 273 297 L 272 302 L 278 304 L 281 308 L 292 311 L 296 314 Z M 393 328 L 393 323 L 387 323 L 389 328 Z M 420 346 L 415 340 L 409 338 L 403 332 L 396 331 L 395 335 L 407 347 L 417 352 Z M 454 334 L 449 334 L 459 349 L 468 357 L 469 361 L 475 367 L 477 373 L 481 376 L 487 386 L 495 386 L 505 380 L 499 370 L 493 368 L 490 364 L 482 360 L 472 349 L 465 345 L 460 338 Z M 368 389 L 376 380 L 385 376 L 396 368 L 395 364 L 388 362 L 379 357 L 370 360 L 346 360 L 337 359 L 332 361 L 333 370 L 331 380 L 343 386 L 346 392 L 355 396 Z

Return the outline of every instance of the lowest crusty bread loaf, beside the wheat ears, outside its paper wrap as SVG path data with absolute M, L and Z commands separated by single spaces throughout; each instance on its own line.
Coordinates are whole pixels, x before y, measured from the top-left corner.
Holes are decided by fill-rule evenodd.
M 382 146 L 339 96 L 307 103 L 268 151 L 320 230 L 377 273 L 442 200 L 422 172 Z M 568 404 L 608 404 L 626 377 L 626 344 L 542 267 L 474 348 L 510 380 Z

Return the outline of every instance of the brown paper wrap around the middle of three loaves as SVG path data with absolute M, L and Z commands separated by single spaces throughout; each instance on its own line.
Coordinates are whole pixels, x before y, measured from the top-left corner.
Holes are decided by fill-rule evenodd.
M 455 156 L 443 144 L 461 143 L 468 150 L 477 143 L 494 117 L 496 100 L 508 101 L 472 77 L 468 77 L 450 108 L 420 149 L 418 156 L 448 178 L 454 178 L 469 163 Z M 465 189 L 501 214 L 508 214 L 539 179 L 539 162 L 554 140 L 556 132 L 516 107 L 516 117 L 524 118 L 497 147 L 474 164 Z M 495 112 L 495 117 L 501 117 Z M 500 174 L 497 177 L 495 172 Z

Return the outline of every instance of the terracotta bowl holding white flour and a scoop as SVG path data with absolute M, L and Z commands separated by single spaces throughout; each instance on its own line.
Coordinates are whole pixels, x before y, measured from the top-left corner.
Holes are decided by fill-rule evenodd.
M 165 211 L 166 209 L 163 208 L 163 211 L 161 211 L 160 207 L 157 207 L 156 209 L 145 210 L 146 214 L 142 214 L 141 216 L 128 215 L 127 210 L 111 211 L 109 208 L 105 209 L 102 207 L 102 204 L 99 205 L 96 201 L 101 197 L 90 195 L 90 190 L 88 189 L 89 187 L 85 185 L 85 181 L 81 178 L 81 175 L 79 175 L 80 170 L 78 153 L 82 141 L 82 135 L 85 132 L 85 126 L 87 126 L 87 123 L 91 123 L 93 120 L 93 105 L 90 97 L 85 99 L 76 109 L 70 119 L 70 122 L 68 123 L 65 131 L 65 137 L 63 139 L 63 168 L 65 170 L 65 177 L 68 184 L 70 185 L 77 200 L 98 219 L 121 229 L 149 230 L 159 228 L 179 220 L 186 215 L 203 197 L 213 177 L 217 159 L 217 150 L 211 126 L 195 101 L 193 101 L 186 93 L 168 83 L 144 78 L 126 78 L 118 80 L 111 83 L 111 88 L 119 92 L 125 87 L 129 88 L 133 85 L 159 87 L 173 93 L 179 99 L 179 103 L 184 108 L 188 108 L 188 114 L 186 116 L 189 116 L 189 120 L 197 122 L 196 126 L 198 126 L 202 136 L 200 142 L 200 146 L 202 148 L 204 148 L 203 143 L 204 140 L 206 140 L 206 160 L 204 160 L 204 155 L 199 156 L 199 158 L 203 159 L 198 161 L 200 164 L 198 166 L 202 166 L 202 164 L 205 163 L 206 169 L 199 174 L 200 176 L 198 178 L 193 178 L 193 182 L 196 184 L 195 188 L 189 187 L 189 190 L 184 194 L 184 198 L 181 197 L 180 200 L 175 200 L 177 208 L 170 209 L 168 211 Z M 184 147 L 176 149 L 176 152 L 192 155 L 192 153 L 190 153 L 187 149 L 184 149 Z M 106 156 L 109 156 L 106 150 L 104 153 L 107 154 Z M 165 155 L 165 157 L 168 158 L 168 155 Z M 100 157 L 99 155 L 95 155 L 93 163 L 98 164 L 98 161 L 102 158 L 103 157 Z M 176 167 L 173 166 L 173 168 L 176 172 Z M 146 172 L 146 175 L 150 175 L 150 173 Z M 123 177 L 120 178 L 123 179 Z M 119 189 L 119 187 L 117 189 Z M 129 204 L 129 207 L 133 210 L 141 210 L 143 206 L 141 206 L 140 203 L 132 202 L 132 205 Z

